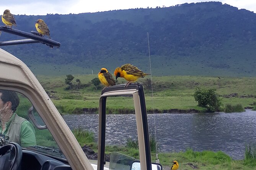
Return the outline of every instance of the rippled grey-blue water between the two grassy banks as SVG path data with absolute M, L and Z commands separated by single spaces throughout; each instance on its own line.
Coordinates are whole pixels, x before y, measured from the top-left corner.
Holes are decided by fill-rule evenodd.
M 98 139 L 98 114 L 64 115 L 68 126 L 95 133 Z M 245 144 L 256 143 L 256 111 L 241 113 L 148 114 L 149 132 L 157 129 L 162 152 L 223 151 L 234 159 L 243 159 Z M 106 144 L 125 144 L 137 138 L 134 114 L 110 114 L 106 117 Z

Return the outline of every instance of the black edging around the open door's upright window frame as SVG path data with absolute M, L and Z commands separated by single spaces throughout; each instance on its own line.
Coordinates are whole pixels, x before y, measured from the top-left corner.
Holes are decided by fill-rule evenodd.
M 139 93 L 140 98 L 140 108 L 141 108 L 141 114 L 142 114 L 142 124 L 143 124 L 143 133 L 144 133 L 144 139 L 145 139 L 145 155 L 146 155 L 146 161 L 150 162 L 150 164 L 147 164 L 147 170 L 151 170 L 151 151 L 150 151 L 150 141 L 149 141 L 149 133 L 148 133 L 148 120 L 147 120 L 147 109 L 146 109 L 146 103 L 145 103 L 145 95 L 143 86 L 140 83 L 130 83 L 127 87 L 125 87 L 125 84 L 106 87 L 101 91 L 101 95 L 108 91 L 116 91 L 116 90 L 127 90 L 127 89 L 136 89 Z M 100 159 L 100 170 L 104 169 L 104 165 L 106 164 L 106 161 L 104 160 L 105 156 L 105 138 L 106 138 L 106 101 L 107 97 L 103 97 L 102 100 L 102 121 L 101 121 L 101 157 Z

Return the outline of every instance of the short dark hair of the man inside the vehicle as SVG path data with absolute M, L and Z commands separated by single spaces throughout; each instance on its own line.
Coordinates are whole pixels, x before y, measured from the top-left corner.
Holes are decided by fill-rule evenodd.
M 11 110 L 13 110 L 13 112 L 15 112 L 16 108 L 20 104 L 20 99 L 19 99 L 18 95 L 16 94 L 16 92 L 9 91 L 9 90 L 0 90 L 0 93 L 2 93 L 2 95 L 1 95 L 2 101 L 4 103 L 10 101 L 11 102 Z

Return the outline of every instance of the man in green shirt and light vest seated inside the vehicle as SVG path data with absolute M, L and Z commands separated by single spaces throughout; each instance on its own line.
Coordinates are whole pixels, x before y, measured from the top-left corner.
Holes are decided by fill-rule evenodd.
M 5 135 L 6 140 L 22 147 L 36 145 L 34 127 L 15 113 L 19 104 L 16 92 L 0 90 L 0 133 Z

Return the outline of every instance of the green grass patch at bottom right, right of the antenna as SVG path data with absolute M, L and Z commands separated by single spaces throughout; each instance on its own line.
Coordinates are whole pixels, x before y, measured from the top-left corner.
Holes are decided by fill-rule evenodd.
M 152 156 L 152 162 L 156 157 Z M 185 152 L 173 152 L 173 153 L 159 153 L 158 159 L 163 167 L 171 167 L 172 161 L 177 160 L 179 162 L 180 170 L 192 170 L 190 165 L 192 164 L 200 170 L 253 170 L 255 167 L 243 165 L 243 160 L 232 160 L 227 154 L 218 151 L 202 151 L 197 152 L 192 149 L 187 149 Z M 164 169 L 165 169 L 164 168 Z

